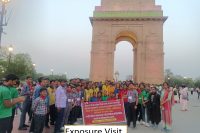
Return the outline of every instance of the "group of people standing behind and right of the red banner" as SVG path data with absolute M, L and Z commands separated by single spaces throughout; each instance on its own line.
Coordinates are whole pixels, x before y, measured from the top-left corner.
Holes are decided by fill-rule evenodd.
M 86 102 L 109 101 L 123 99 L 127 125 L 136 127 L 136 123 L 157 128 L 161 120 L 163 130 L 170 131 L 172 126 L 172 106 L 174 93 L 168 83 L 163 83 L 162 91 L 155 85 L 145 83 L 98 82 L 89 83 L 84 91 Z

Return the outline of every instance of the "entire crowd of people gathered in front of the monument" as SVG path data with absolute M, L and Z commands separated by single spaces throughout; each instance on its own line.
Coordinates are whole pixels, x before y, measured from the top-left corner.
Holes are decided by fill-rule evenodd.
M 127 126 L 132 122 L 133 128 L 136 123 L 157 128 L 162 120 L 163 131 L 168 132 L 172 128 L 174 102 L 181 102 L 182 110 L 187 111 L 187 91 L 185 86 L 171 88 L 167 82 L 155 86 L 133 81 L 66 81 L 40 77 L 34 83 L 30 76 L 22 84 L 16 75 L 9 74 L 0 86 L 0 133 L 12 132 L 17 110 L 21 111 L 18 130 L 28 130 L 28 114 L 29 132 L 42 133 L 44 127 L 53 125 L 54 133 L 58 133 L 64 125 L 82 118 L 81 102 L 117 99 L 124 101 Z

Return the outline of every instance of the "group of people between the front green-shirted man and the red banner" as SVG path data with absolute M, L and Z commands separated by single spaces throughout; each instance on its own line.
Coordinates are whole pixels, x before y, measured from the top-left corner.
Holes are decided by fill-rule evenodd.
M 55 133 L 62 132 L 64 125 L 74 124 L 81 117 L 82 93 L 79 87 L 67 86 L 66 80 L 49 81 L 48 78 L 41 77 L 33 85 L 32 78 L 27 77 L 21 95 L 25 96 L 25 101 L 22 104 L 19 130 L 28 130 L 29 126 L 25 121 L 29 110 L 29 132 L 33 133 L 42 133 L 43 128 L 50 128 L 50 125 L 55 126 Z

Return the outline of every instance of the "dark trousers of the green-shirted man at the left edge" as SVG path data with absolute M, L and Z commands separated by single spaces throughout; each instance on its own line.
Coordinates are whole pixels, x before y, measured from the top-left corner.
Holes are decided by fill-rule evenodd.
M 0 118 L 0 133 L 7 133 L 9 131 L 9 124 L 11 117 Z

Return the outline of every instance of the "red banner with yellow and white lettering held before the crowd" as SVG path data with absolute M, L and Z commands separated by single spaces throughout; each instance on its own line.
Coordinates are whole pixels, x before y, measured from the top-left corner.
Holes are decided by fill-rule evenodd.
M 126 122 L 123 100 L 82 103 L 85 125 Z

